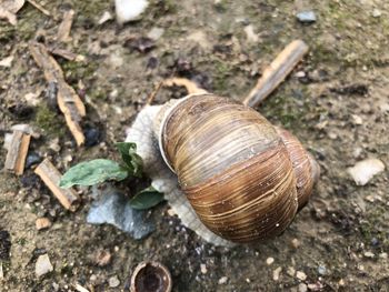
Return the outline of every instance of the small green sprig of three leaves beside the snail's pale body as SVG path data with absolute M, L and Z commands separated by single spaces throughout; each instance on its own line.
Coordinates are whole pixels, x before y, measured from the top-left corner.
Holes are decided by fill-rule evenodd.
M 141 178 L 143 162 L 141 157 L 137 154 L 137 144 L 120 142 L 116 147 L 121 154 L 122 163 L 110 159 L 94 159 L 80 162 L 62 175 L 59 187 L 94 185 L 109 180 L 122 181 L 131 177 Z M 163 201 L 163 194 L 150 185 L 137 193 L 129 203 L 133 209 L 146 210 L 161 201 Z

